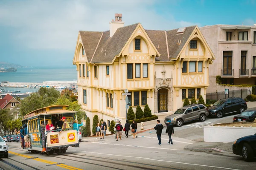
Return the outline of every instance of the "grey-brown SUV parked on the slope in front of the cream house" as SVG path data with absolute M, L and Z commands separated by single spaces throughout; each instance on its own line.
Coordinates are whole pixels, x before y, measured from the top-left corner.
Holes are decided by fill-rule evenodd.
M 173 125 L 180 127 L 183 123 L 193 120 L 199 119 L 201 122 L 204 122 L 208 115 L 209 112 L 206 106 L 202 104 L 188 105 L 177 109 L 174 114 L 167 116 L 164 122 L 170 120 Z

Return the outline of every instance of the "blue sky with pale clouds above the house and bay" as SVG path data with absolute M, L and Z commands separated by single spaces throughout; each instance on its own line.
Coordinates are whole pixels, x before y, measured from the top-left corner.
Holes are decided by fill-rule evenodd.
M 106 31 L 115 13 L 125 25 L 169 30 L 256 23 L 256 0 L 0 0 L 0 61 L 73 67 L 79 30 Z

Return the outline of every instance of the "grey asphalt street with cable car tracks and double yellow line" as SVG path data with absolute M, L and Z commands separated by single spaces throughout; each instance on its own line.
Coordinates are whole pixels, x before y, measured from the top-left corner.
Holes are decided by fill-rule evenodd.
M 116 142 L 114 136 L 104 140 L 89 137 L 79 148 L 70 147 L 66 154 L 45 156 L 20 150 L 19 143 L 9 144 L 9 158 L 0 159 L 3 170 L 254 170 L 256 161 L 244 162 L 241 156 L 221 153 L 184 151 L 194 141 L 162 135 L 162 145 L 152 133 L 140 133 L 138 138 L 123 138 Z

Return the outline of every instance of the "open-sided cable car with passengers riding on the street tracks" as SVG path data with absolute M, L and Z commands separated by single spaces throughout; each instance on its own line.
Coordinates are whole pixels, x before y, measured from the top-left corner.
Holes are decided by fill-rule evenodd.
M 31 142 L 28 151 L 42 154 L 66 153 L 68 147 L 79 147 L 79 129 L 73 128 L 77 119 L 77 111 L 67 110 L 68 105 L 52 105 L 27 113 L 22 124 L 27 125 L 27 132 Z M 62 129 L 61 119 L 66 118 L 69 128 Z M 47 122 L 52 122 L 50 129 L 46 129 Z M 60 122 L 61 121 L 61 122 Z M 66 124 L 67 126 L 67 124 Z M 77 126 L 78 127 L 78 126 Z M 63 131 L 62 131 L 63 130 Z

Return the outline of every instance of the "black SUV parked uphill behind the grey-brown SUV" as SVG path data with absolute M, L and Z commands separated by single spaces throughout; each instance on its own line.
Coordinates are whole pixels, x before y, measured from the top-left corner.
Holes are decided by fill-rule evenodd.
M 247 109 L 247 104 L 242 98 L 220 99 L 208 108 L 209 116 L 223 117 L 225 114 L 240 114 Z

